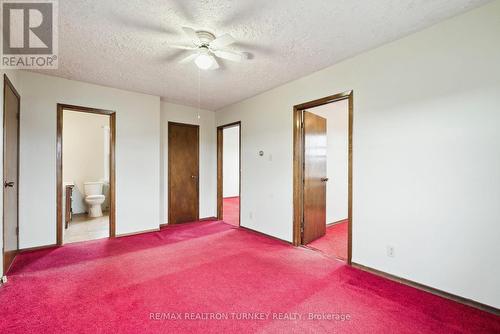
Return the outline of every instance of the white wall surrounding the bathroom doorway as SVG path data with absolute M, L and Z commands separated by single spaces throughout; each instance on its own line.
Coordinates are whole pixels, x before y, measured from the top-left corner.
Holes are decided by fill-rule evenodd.
M 56 242 L 57 103 L 116 111 L 116 232 L 160 223 L 160 99 L 19 72 L 21 93 L 20 246 Z

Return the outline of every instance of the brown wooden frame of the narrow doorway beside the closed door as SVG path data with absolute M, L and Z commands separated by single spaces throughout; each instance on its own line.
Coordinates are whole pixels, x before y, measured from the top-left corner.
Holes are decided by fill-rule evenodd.
M 238 205 L 238 226 L 241 226 L 241 121 L 224 124 L 217 127 L 217 219 L 222 220 L 224 215 L 224 210 L 222 206 L 222 197 L 223 197 L 223 147 L 224 147 L 224 129 L 231 127 L 239 127 L 239 171 L 238 171 L 238 196 L 239 196 L 239 205 Z

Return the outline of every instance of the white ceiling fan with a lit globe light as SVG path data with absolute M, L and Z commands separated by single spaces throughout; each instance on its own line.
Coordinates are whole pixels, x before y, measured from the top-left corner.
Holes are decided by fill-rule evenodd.
M 182 27 L 182 30 L 189 36 L 193 46 L 168 45 L 174 49 L 194 51 L 189 56 L 181 59 L 179 63 L 186 64 L 194 61 L 196 66 L 202 70 L 216 70 L 219 64 L 216 58 L 241 62 L 246 58 L 245 53 L 224 49 L 233 44 L 235 39 L 230 34 L 215 37 L 214 34 L 204 30 L 194 30 L 189 27 Z

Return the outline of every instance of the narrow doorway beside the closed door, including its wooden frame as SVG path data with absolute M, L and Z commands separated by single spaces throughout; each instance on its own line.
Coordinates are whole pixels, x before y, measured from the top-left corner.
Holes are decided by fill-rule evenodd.
M 241 122 L 217 127 L 217 219 L 240 226 Z

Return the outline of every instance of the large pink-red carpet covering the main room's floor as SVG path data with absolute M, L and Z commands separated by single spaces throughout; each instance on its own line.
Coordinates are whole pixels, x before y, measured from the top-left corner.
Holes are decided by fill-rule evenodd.
M 0 333 L 500 332 L 492 314 L 217 221 L 21 254 L 0 305 Z

